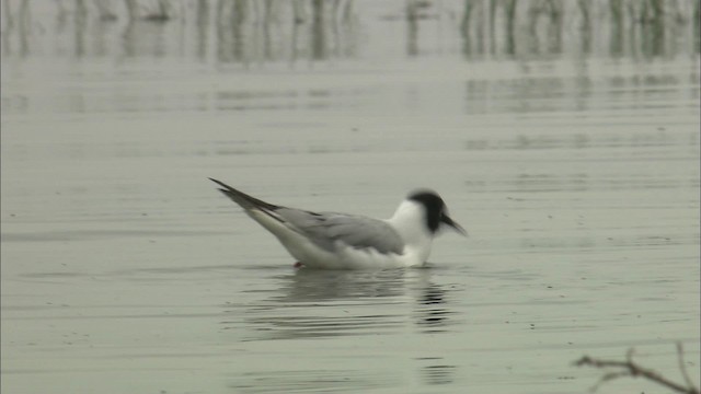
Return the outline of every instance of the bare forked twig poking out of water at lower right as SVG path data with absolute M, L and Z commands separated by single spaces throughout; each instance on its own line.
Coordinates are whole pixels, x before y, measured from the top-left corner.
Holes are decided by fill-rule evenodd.
M 596 391 L 605 382 L 608 382 L 618 378 L 642 376 L 652 382 L 666 386 L 667 389 L 670 389 L 677 393 L 700 394 L 699 389 L 697 389 L 693 385 L 693 382 L 691 382 L 691 379 L 689 378 L 689 373 L 687 372 L 687 368 L 683 363 L 683 352 L 681 348 L 681 343 L 677 343 L 677 356 L 679 360 L 679 369 L 681 370 L 685 384 L 673 382 L 667 378 L 663 376 L 662 374 L 635 363 L 633 361 L 633 349 L 628 350 L 628 352 L 625 354 L 625 361 L 600 360 L 600 359 L 591 358 L 589 356 L 584 356 L 579 360 L 575 361 L 574 364 L 577 367 L 582 367 L 582 366 L 591 366 L 594 368 L 611 368 L 612 367 L 618 369 L 617 371 L 608 372 L 604 376 L 601 376 L 601 379 L 599 379 L 599 381 L 591 387 L 593 392 Z

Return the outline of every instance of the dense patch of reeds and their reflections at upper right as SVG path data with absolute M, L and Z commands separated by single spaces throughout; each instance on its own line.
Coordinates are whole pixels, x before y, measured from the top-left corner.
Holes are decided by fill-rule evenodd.
M 698 53 L 698 2 L 681 1 L 466 0 L 459 28 L 467 57 L 563 51 L 655 57 L 682 50 L 679 43 Z

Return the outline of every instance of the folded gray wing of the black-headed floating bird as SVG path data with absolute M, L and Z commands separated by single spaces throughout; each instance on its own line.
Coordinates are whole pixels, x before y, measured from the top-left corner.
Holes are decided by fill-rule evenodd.
M 334 212 L 309 212 L 279 207 L 276 210 L 285 221 L 307 235 L 319 246 L 333 251 L 336 241 L 355 248 L 375 248 L 380 253 L 401 254 L 404 242 L 387 222 Z

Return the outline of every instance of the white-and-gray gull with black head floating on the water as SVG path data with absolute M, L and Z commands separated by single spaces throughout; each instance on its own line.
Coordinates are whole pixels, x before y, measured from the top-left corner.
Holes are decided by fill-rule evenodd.
M 387 220 L 363 216 L 312 212 L 262 201 L 217 183 L 227 197 L 273 233 L 298 259 L 297 267 L 323 269 L 383 269 L 426 263 L 434 236 L 441 225 L 467 235 L 448 216 L 438 194 L 411 193 Z

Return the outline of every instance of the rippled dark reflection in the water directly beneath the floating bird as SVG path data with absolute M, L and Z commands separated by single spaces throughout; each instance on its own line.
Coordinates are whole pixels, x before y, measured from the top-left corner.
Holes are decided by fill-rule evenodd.
M 445 290 L 429 278 L 430 269 L 300 269 L 276 276 L 273 294 L 263 300 L 228 304 L 231 318 L 222 324 L 242 340 L 391 335 L 411 322 L 422 332 L 445 331 Z

